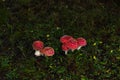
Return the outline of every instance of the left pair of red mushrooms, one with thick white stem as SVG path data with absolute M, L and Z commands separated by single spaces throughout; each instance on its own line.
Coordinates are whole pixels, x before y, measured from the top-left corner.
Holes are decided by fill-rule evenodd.
M 35 56 L 53 56 L 55 51 L 52 47 L 44 47 L 44 43 L 42 41 L 34 41 L 33 49 L 35 50 Z

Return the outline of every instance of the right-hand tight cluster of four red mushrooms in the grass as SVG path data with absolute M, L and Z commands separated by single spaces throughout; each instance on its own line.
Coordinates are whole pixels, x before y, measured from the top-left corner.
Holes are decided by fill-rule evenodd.
M 65 51 L 65 54 L 67 54 L 69 50 L 79 50 L 81 47 L 87 45 L 87 42 L 83 37 L 75 39 L 69 35 L 62 36 L 60 42 L 62 43 L 62 50 Z

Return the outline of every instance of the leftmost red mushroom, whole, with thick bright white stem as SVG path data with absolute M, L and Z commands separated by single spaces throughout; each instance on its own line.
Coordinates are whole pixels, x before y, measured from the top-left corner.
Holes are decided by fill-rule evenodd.
M 36 56 L 41 56 L 43 55 L 40 50 L 44 47 L 44 43 L 42 41 L 34 41 L 32 44 L 33 49 L 35 50 L 35 55 Z

